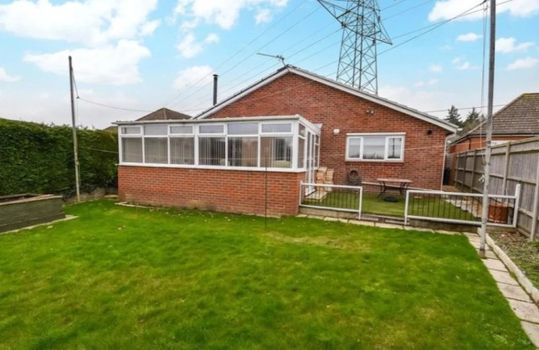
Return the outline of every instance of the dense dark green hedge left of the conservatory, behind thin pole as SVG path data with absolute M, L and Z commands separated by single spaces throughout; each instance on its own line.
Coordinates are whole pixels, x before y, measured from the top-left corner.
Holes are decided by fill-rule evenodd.
M 115 187 L 117 135 L 79 129 L 78 139 L 81 190 Z M 70 127 L 0 119 L 0 195 L 74 192 Z

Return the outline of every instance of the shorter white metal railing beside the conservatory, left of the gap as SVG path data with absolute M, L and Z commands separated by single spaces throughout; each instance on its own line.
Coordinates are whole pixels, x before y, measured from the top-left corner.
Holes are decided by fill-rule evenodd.
M 357 213 L 361 219 L 363 187 L 300 183 L 299 206 Z

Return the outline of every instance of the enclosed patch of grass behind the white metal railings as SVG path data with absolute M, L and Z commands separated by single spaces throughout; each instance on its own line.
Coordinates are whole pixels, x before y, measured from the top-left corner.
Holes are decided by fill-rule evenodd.
M 364 192 L 362 211 L 368 214 L 404 217 L 405 198 L 398 194 L 391 194 L 396 202 L 388 202 L 378 197 L 378 193 Z M 411 200 L 410 214 L 427 215 L 431 217 L 474 220 L 472 214 L 461 210 L 447 201 L 432 198 L 414 197 Z M 357 192 L 334 191 L 329 192 L 323 199 L 305 199 L 305 204 L 321 205 L 332 208 L 358 208 Z

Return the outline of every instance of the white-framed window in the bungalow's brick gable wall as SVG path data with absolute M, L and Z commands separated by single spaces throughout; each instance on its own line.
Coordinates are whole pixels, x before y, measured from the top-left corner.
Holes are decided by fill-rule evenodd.
M 346 141 L 347 160 L 402 160 L 403 150 L 404 136 L 401 135 L 352 135 Z

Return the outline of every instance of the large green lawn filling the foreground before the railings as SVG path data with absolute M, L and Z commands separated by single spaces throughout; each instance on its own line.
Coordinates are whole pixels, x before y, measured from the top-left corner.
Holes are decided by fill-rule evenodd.
M 463 236 L 98 201 L 0 236 L 0 348 L 531 349 Z

